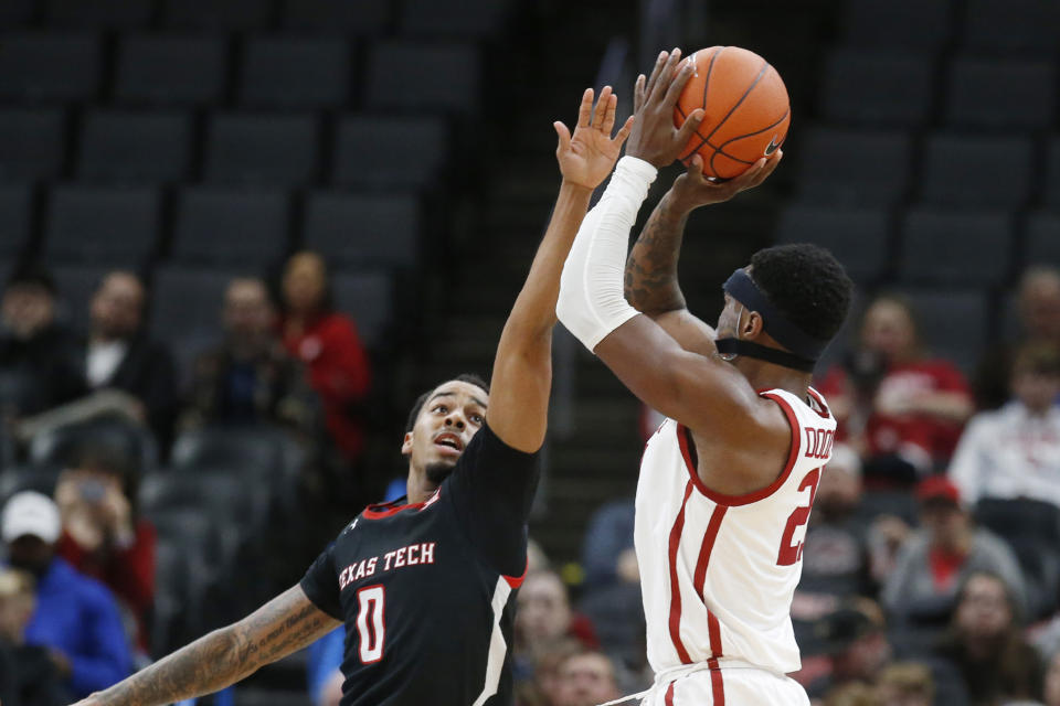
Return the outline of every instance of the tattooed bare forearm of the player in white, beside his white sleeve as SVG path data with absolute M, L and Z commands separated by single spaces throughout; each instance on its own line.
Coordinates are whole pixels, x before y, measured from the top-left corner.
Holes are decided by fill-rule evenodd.
M 626 260 L 625 295 L 637 310 L 658 314 L 685 308 L 677 260 L 688 214 L 675 213 L 662 197 Z

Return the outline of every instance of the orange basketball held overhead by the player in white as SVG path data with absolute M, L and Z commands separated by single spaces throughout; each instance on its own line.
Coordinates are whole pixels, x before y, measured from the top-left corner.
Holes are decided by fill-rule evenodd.
M 784 142 L 792 113 L 784 81 L 768 62 L 739 46 L 711 46 L 691 55 L 696 73 L 674 108 L 674 125 L 702 108 L 703 121 L 679 156 L 699 153 L 703 174 L 732 179 Z

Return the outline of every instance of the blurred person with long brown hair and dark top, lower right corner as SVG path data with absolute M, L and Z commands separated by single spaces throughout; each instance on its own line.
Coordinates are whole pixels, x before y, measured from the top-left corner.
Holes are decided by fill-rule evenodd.
M 973 706 L 1041 695 L 1041 662 L 1024 640 L 1018 616 L 1011 589 L 1000 576 L 975 571 L 962 585 L 937 652 L 961 672 Z

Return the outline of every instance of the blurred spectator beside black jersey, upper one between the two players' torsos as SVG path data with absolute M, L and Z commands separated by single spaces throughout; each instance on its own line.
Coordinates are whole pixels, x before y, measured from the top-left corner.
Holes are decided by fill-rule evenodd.
M 531 662 L 566 638 L 591 650 L 600 646 L 592 622 L 571 610 L 566 586 L 555 571 L 528 574 L 517 605 L 516 649 Z

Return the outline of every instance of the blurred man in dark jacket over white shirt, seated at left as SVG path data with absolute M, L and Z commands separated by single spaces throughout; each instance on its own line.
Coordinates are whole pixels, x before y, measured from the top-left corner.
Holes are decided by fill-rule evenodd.
M 167 449 L 177 411 L 176 370 L 169 351 L 144 330 L 145 306 L 144 284 L 132 272 L 103 278 L 92 298 L 85 374 L 92 389 L 120 389 L 139 400 L 141 419 Z

